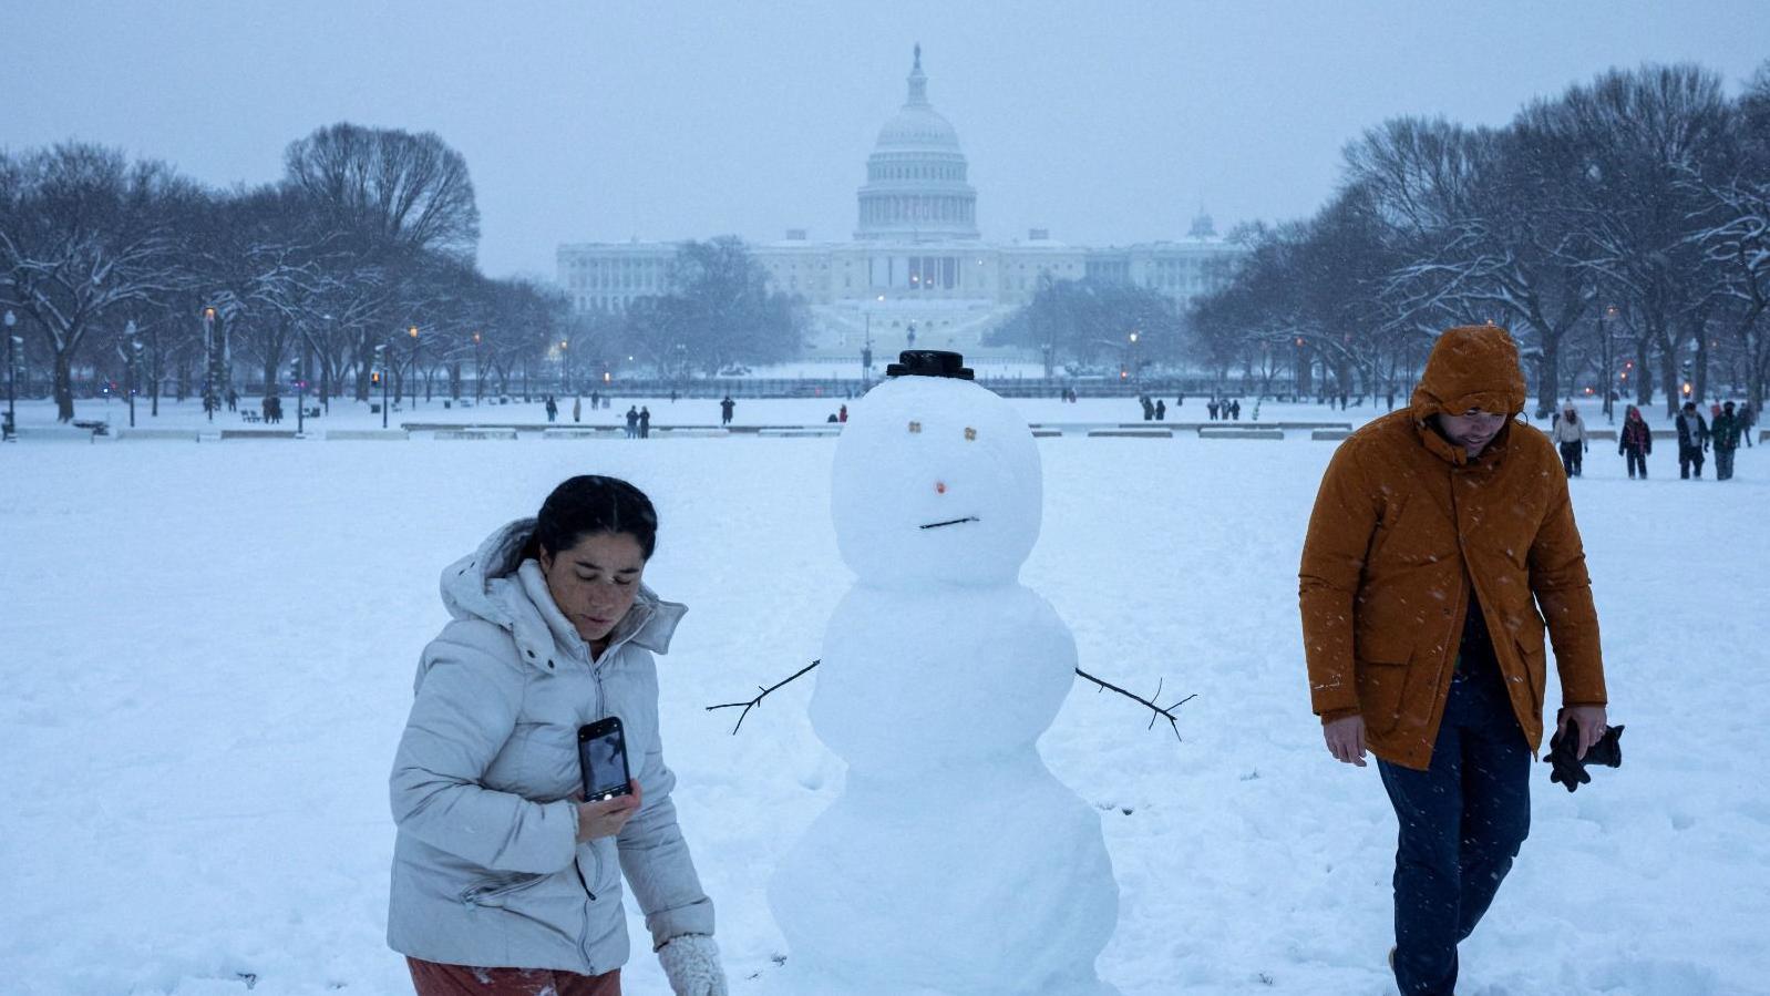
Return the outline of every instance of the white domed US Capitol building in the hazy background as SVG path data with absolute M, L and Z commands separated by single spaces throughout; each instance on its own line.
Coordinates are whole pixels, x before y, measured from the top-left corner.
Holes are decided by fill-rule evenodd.
M 559 246 L 559 287 L 581 311 L 623 311 L 667 290 L 676 242 Z M 858 191 L 851 242 L 812 242 L 802 228 L 750 244 L 772 290 L 800 295 L 811 313 L 805 359 L 853 361 L 901 349 L 954 349 L 975 359 L 1025 359 L 984 347 L 986 334 L 1028 304 L 1039 278 L 1136 283 L 1182 306 L 1227 283 L 1243 255 L 1200 214 L 1182 241 L 1089 248 L 1032 228 L 1023 241 L 988 244 L 977 232 L 977 189 L 966 182 L 959 136 L 927 103 L 922 46 L 910 97 L 880 129 Z

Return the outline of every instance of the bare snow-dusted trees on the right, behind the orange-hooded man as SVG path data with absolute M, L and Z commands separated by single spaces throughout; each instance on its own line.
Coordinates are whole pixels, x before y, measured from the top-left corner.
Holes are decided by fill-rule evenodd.
M 1667 409 L 1770 377 L 1770 64 L 1611 71 L 1504 127 L 1397 119 L 1313 218 L 1189 315 L 1197 363 L 1262 391 L 1382 396 L 1451 324 L 1508 326 L 1538 410 L 1591 387 Z M 1276 379 L 1276 387 L 1274 387 Z

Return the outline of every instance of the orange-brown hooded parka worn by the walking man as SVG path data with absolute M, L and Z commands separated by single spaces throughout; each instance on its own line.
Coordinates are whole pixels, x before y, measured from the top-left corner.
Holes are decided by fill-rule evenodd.
M 1363 715 L 1370 750 L 1427 768 L 1469 598 L 1481 600 L 1513 713 L 1535 752 L 1543 630 L 1565 706 L 1605 702 L 1598 617 L 1566 474 L 1549 439 L 1508 421 L 1469 458 L 1435 416 L 1524 410 L 1512 336 L 1439 336 L 1407 409 L 1358 430 L 1322 476 L 1299 600 L 1310 701 L 1322 722 Z

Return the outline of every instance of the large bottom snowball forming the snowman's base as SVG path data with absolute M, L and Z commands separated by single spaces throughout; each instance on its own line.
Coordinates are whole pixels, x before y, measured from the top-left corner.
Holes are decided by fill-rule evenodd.
M 1094 975 L 1119 920 L 1099 814 L 1030 750 L 929 775 L 850 771 L 788 853 L 768 897 L 789 975 L 827 996 L 1112 992 Z

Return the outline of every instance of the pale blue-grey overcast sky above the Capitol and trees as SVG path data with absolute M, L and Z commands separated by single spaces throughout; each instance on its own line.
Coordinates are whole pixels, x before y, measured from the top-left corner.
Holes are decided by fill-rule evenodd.
M 480 264 L 559 242 L 846 241 L 922 42 L 986 239 L 1076 244 L 1310 214 L 1395 115 L 1503 124 L 1609 65 L 1770 57 L 1763 0 L 7 0 L 0 147 L 69 138 L 219 186 L 324 124 L 435 131 L 473 170 Z

